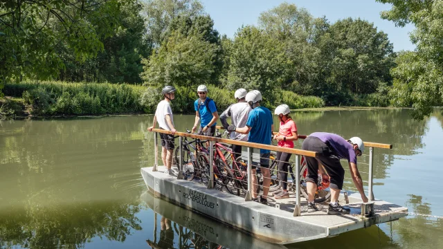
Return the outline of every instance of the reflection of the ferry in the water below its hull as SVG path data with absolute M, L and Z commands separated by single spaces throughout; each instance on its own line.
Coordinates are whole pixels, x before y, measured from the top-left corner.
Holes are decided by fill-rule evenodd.
M 147 238 L 152 248 L 283 248 L 163 201 L 150 192 L 143 193 L 141 199 L 155 212 L 154 234 Z

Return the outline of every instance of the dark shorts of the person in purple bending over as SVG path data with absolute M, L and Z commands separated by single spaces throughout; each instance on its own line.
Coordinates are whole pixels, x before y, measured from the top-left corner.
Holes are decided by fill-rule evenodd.
M 334 190 L 341 190 L 345 179 L 345 169 L 341 166 L 340 158 L 335 155 L 332 148 L 320 138 L 309 136 L 303 141 L 302 149 L 320 154 L 316 158 L 305 156 L 307 164 L 306 181 L 318 182 L 318 163 L 321 163 L 331 178 L 330 187 Z

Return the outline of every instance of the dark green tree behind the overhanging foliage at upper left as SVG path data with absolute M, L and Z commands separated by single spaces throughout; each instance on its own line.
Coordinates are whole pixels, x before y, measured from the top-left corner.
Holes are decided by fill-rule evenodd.
M 103 51 L 97 57 L 80 64 L 71 51 L 64 47 L 60 55 L 67 65 L 60 80 L 89 82 L 141 82 L 143 72 L 141 57 L 151 53 L 145 37 L 144 19 L 140 15 L 140 3 L 128 2 L 121 8 L 120 26 L 114 29 L 112 37 L 100 39 Z

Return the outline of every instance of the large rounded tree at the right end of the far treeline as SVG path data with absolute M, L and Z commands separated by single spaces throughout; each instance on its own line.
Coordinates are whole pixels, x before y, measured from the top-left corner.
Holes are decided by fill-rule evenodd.
M 343 19 L 329 28 L 334 44 L 330 81 L 352 93 L 374 93 L 391 82 L 395 53 L 388 35 L 361 19 Z

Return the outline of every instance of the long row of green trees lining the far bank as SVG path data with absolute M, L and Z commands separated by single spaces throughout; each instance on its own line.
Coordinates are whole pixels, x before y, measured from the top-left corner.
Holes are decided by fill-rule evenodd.
M 348 18 L 330 23 L 326 17 L 313 17 L 304 8 L 282 3 L 262 12 L 257 26 L 239 27 L 230 38 L 214 29 L 213 19 L 197 0 L 97 0 L 88 1 L 93 6 L 89 8 L 78 5 L 78 1 L 67 2 L 44 3 L 54 6 L 42 12 L 36 11 L 42 7 L 33 6 L 33 2 L 8 3 L 6 7 L 12 11 L 21 4 L 35 20 L 17 24 L 12 16 L 1 17 L 3 93 L 15 92 L 13 89 L 23 84 L 24 96 L 31 101 L 34 95 L 42 97 L 39 91 L 51 85 L 46 96 L 51 106 L 48 111 L 78 114 L 147 110 L 138 101 L 144 90 L 127 84 L 143 84 L 144 89 L 149 86 L 156 91 L 165 84 L 179 87 L 183 94 L 174 108 L 182 112 L 192 111 L 188 104 L 197 98 L 199 84 L 217 89 L 210 93 L 211 98 L 220 93 L 229 101 L 237 88 L 258 89 L 269 106 L 389 104 L 390 69 L 397 55 L 386 33 L 365 20 Z M 33 8 L 35 11 L 30 11 Z M 28 31 L 11 29 L 6 26 L 8 21 Z M 14 38 L 17 35 L 22 39 Z M 10 57 L 15 59 L 4 59 Z M 102 90 L 102 83 L 29 86 L 45 79 L 125 84 L 104 84 Z M 82 90 L 78 93 L 54 90 L 79 87 Z M 139 90 L 132 96 L 127 89 Z M 105 98 L 103 94 L 111 91 L 123 91 L 116 94 L 124 95 L 121 98 L 125 100 Z M 80 92 L 87 95 L 78 95 Z M 127 105 L 129 99 L 134 103 Z M 66 107 L 66 102 L 73 106 Z M 80 102 L 89 104 L 75 105 Z

